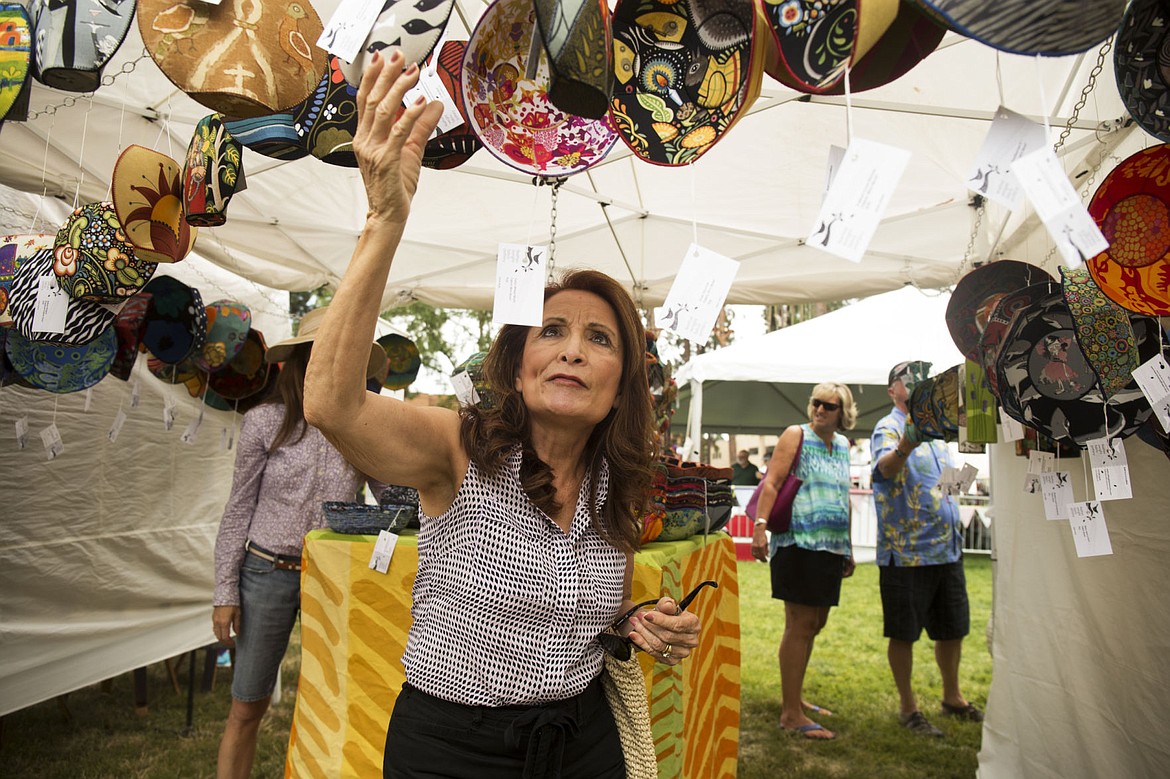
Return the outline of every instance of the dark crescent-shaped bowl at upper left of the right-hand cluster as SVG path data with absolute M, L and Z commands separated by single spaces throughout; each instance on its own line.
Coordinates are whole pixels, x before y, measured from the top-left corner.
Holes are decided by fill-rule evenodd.
M 1005 295 L 1042 281 L 1053 280 L 1042 268 L 1016 260 L 979 266 L 959 278 L 947 303 L 947 329 L 958 351 L 978 360 L 979 338 L 996 304 Z

